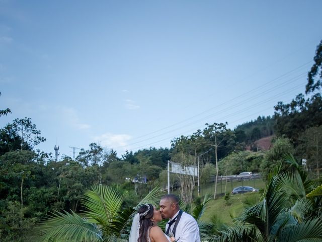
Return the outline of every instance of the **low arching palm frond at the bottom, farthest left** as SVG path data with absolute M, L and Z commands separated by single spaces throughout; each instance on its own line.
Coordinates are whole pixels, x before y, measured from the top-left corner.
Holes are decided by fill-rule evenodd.
M 103 241 L 100 228 L 75 214 L 60 213 L 50 216 L 39 225 L 41 241 Z

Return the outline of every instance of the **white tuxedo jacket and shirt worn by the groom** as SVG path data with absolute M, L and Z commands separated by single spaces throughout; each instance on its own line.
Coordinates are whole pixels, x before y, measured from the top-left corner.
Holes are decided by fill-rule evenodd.
M 179 211 L 173 216 L 175 218 Z M 169 220 L 170 221 L 170 220 Z M 170 231 L 177 222 L 171 225 Z M 166 231 L 169 224 L 166 225 Z M 199 227 L 197 221 L 188 213 L 183 212 L 176 228 L 176 240 L 178 242 L 200 242 Z

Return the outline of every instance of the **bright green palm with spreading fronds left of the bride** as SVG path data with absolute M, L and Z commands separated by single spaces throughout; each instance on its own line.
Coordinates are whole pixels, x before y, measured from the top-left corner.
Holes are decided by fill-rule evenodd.
M 163 192 L 158 187 L 135 208 L 122 209 L 122 195 L 113 188 L 97 185 L 85 194 L 82 215 L 57 212 L 39 226 L 41 241 L 126 241 L 132 215 L 144 203 L 157 205 Z

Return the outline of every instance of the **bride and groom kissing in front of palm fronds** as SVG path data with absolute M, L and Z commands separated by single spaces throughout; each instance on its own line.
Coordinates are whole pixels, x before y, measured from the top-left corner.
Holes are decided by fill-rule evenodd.
M 166 233 L 157 226 L 162 219 L 170 219 Z M 152 204 L 144 204 L 134 216 L 129 242 L 200 242 L 197 221 L 180 210 L 176 195 L 164 195 L 157 210 Z

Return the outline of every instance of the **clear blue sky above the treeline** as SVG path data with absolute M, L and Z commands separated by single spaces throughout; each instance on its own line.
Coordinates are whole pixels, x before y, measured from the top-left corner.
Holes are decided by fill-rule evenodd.
M 304 92 L 322 1 L 0 0 L 0 127 L 31 117 L 72 156 L 272 115 Z M 77 150 L 79 151 L 79 150 Z

